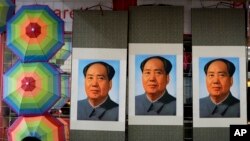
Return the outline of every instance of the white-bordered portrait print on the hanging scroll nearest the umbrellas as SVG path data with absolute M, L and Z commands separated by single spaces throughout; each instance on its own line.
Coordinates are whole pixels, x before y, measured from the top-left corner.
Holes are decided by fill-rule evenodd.
M 125 131 L 126 54 L 73 48 L 71 129 Z

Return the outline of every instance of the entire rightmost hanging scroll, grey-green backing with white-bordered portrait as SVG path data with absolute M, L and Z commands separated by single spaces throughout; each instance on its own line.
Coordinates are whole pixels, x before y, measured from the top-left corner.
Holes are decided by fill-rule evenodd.
M 192 43 L 193 140 L 228 141 L 247 123 L 244 10 L 192 9 Z

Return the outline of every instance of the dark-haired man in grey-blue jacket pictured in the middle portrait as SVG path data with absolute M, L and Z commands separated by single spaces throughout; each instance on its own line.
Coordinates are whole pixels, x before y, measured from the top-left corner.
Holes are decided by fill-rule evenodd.
M 176 115 L 176 98 L 166 89 L 171 62 L 152 56 L 142 61 L 140 69 L 145 93 L 135 97 L 135 115 Z

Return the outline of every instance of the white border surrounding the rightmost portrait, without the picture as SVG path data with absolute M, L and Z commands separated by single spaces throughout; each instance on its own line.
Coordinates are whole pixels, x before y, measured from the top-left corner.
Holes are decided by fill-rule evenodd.
M 200 118 L 199 112 L 199 58 L 200 57 L 237 57 L 239 58 L 240 77 L 240 117 L 239 118 Z M 233 124 L 246 124 L 246 47 L 245 46 L 193 46 L 193 126 L 229 127 Z M 201 68 L 202 69 L 202 68 Z

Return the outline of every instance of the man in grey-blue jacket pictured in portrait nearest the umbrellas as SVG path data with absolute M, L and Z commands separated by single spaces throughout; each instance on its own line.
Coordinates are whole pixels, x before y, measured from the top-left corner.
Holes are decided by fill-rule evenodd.
M 83 68 L 86 99 L 77 103 L 78 120 L 118 121 L 119 105 L 109 97 L 114 68 L 102 61 Z

